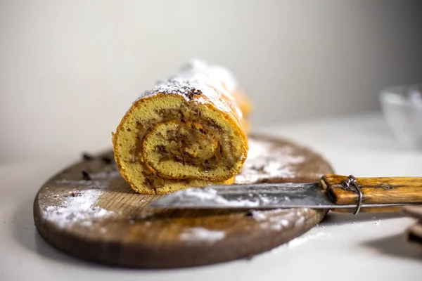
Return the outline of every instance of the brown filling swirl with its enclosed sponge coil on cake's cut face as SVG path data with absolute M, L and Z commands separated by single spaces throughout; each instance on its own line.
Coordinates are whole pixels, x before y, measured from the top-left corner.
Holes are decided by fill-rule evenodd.
M 200 112 L 188 105 L 179 108 L 157 110 L 158 118 L 148 123 L 138 122 L 138 143 L 132 150 L 131 162 L 139 162 L 148 168 L 143 171 L 147 186 L 160 186 L 165 178 L 200 178 L 197 171 L 205 176 L 216 166 L 230 169 L 236 159 L 224 150 L 216 136 L 223 130 L 210 119 L 204 119 Z M 148 131 L 145 136 L 141 131 Z M 229 148 L 233 144 L 229 141 Z M 221 160 L 224 159 L 224 162 Z M 191 173 L 189 169 L 191 166 Z M 171 167 L 172 169 L 168 169 Z M 169 173 L 168 171 L 179 171 Z

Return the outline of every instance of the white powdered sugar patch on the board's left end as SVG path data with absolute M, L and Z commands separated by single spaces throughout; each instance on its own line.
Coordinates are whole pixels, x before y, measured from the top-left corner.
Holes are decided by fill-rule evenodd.
M 100 180 L 71 180 L 60 179 L 55 181 L 56 185 L 71 186 L 71 190 L 65 192 L 61 197 L 56 193 L 46 192 L 44 194 L 49 202 L 57 202 L 55 205 L 42 207 L 41 214 L 45 221 L 54 223 L 58 228 L 67 228 L 75 224 L 91 226 L 94 221 L 114 216 L 113 211 L 108 211 L 96 204 L 104 190 L 108 188 L 110 180 L 119 176 L 112 172 L 100 172 L 91 174 L 91 178 Z M 63 199 L 64 197 L 64 199 Z

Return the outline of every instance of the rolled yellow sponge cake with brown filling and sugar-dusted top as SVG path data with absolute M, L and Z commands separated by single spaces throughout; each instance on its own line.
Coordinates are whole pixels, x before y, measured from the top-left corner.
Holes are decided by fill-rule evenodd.
M 193 60 L 122 118 L 113 133 L 120 174 L 143 194 L 233 183 L 248 155 L 250 109 L 229 70 Z

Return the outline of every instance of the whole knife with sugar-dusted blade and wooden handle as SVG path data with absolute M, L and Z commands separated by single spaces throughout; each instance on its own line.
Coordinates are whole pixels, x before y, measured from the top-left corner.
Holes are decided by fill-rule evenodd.
M 188 188 L 164 195 L 151 207 L 191 209 L 313 208 L 397 211 L 422 204 L 422 177 L 355 178 L 327 174 L 317 183 L 250 183 Z

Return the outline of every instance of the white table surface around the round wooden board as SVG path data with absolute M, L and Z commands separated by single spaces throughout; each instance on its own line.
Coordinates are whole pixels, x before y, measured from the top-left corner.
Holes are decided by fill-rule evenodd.
M 262 128 L 323 153 L 338 174 L 422 176 L 422 152 L 404 150 L 381 115 Z M 32 202 L 44 181 L 79 155 L 0 166 L 0 280 L 422 280 L 422 248 L 401 214 L 328 214 L 302 237 L 252 260 L 177 270 L 112 268 L 57 251 L 38 235 Z

